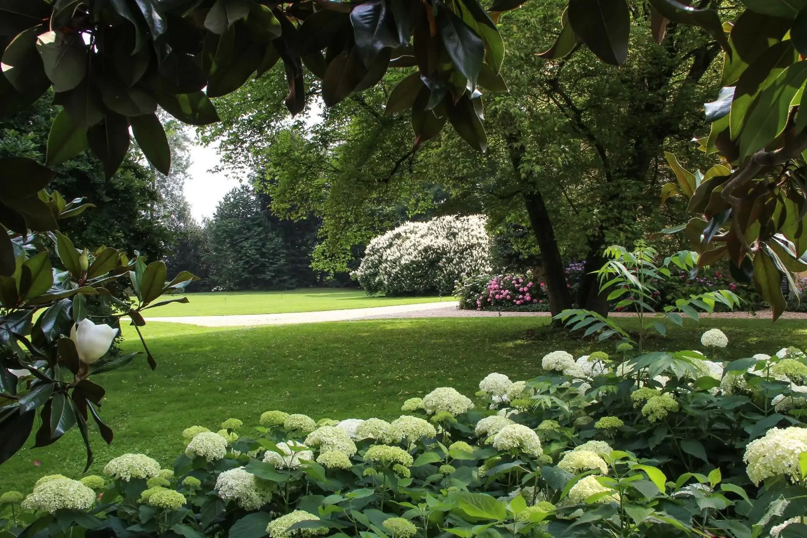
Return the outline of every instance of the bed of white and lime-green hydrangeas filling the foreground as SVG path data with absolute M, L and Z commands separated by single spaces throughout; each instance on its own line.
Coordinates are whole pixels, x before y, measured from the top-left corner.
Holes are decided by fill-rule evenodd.
M 613 356 L 556 350 L 529 381 L 491 373 L 475 398 L 438 387 L 391 421 L 266 411 L 220 433 L 190 426 L 174 433 L 188 449 L 169 468 L 124 454 L 105 477 L 48 475 L 3 493 L 0 531 L 807 536 L 807 356 L 730 357 L 724 339 L 638 355 L 629 344 Z

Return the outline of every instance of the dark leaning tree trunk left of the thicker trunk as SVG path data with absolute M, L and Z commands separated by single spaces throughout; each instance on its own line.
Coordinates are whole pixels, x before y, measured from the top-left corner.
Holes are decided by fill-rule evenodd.
M 546 211 L 541 193 L 525 193 L 523 197 L 529 223 L 532 225 L 538 247 L 541 248 L 546 292 L 550 296 L 550 312 L 557 315 L 572 307 L 571 291 L 560 256 L 558 240 L 555 238 L 549 211 Z

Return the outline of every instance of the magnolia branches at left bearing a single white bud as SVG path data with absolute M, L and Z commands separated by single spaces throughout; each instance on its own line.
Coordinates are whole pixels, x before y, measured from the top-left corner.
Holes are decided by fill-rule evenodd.
M 48 219 L 28 217 L 20 228 L 23 233 L 9 232 L 15 270 L 0 276 L 0 463 L 28 440 L 38 416 L 34 446 L 52 444 L 77 427 L 89 467 L 90 416 L 102 438 L 112 442 L 112 430 L 99 414 L 106 391 L 96 376 L 127 365 L 138 354 L 109 353 L 119 330 L 94 323 L 92 312 L 100 305 L 112 308 L 113 317 L 128 316 L 142 340 L 145 321 L 140 312 L 166 302 L 187 302 L 157 299 L 196 277 L 183 272 L 166 282 L 161 261 L 146 265 L 137 253 L 130 258 L 115 248 L 75 248 L 68 237 L 50 230 L 57 220 L 77 215 L 90 204 L 82 204 L 81 198 L 65 202 L 58 192 L 37 193 L 39 188 L 36 181 L 13 188 L 20 196 L 35 197 L 47 208 Z M 143 345 L 148 364 L 155 368 Z

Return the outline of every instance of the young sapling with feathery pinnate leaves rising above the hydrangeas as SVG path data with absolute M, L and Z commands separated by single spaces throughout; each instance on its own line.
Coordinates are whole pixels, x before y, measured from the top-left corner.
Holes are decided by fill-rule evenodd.
M 669 269 L 671 264 L 687 271 L 695 269 L 699 262 L 698 254 L 688 251 L 678 252 L 665 258 L 659 265 L 658 252 L 647 244 L 638 242 L 633 251 L 619 245 L 608 247 L 605 256 L 608 256 L 608 262 L 597 271 L 600 292 L 608 292 L 608 301 L 618 299 L 615 305 L 617 309 L 627 308 L 637 313 L 640 352 L 647 329 L 653 328 L 654 331 L 664 335 L 667 333 L 668 323 L 683 327 L 684 318 L 688 317 L 695 321 L 700 319 L 698 311 L 713 312 L 717 304 L 733 310 L 740 304 L 740 298 L 733 291 L 715 290 L 676 298 L 674 305 L 667 305 L 663 307 L 663 311 L 656 312 L 654 307 L 659 302 L 656 282 L 663 282 L 671 277 Z M 645 321 L 646 315 L 652 315 L 650 322 Z M 583 336 L 599 333 L 600 340 L 621 336 L 623 340 L 633 341 L 616 320 L 606 319 L 597 312 L 569 309 L 555 315 L 555 319 L 560 319 L 573 331 L 585 329 Z

